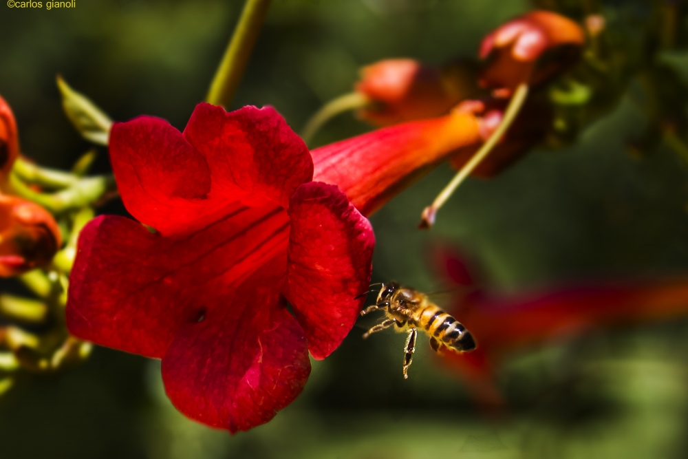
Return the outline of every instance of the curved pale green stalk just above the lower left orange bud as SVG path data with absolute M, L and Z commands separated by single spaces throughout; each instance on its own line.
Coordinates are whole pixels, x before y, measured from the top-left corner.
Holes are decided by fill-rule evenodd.
M 115 193 L 117 185 L 112 175 L 98 175 L 79 179 L 56 193 L 40 193 L 27 186 L 19 175 L 10 174 L 10 186 L 21 198 L 36 202 L 52 213 L 63 213 L 93 204 Z

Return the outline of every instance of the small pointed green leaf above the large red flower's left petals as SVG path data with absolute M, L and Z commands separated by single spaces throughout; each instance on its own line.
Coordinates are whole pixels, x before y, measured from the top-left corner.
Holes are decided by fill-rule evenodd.
M 107 145 L 112 127 L 112 120 L 109 116 L 96 107 L 89 98 L 69 87 L 59 75 L 57 76 L 57 87 L 62 94 L 62 106 L 65 109 L 65 114 L 72 121 L 79 134 L 89 142 Z

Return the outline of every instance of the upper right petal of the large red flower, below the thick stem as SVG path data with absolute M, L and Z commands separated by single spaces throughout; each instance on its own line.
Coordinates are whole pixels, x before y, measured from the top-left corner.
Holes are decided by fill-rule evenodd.
M 308 147 L 272 107 L 244 107 L 227 113 L 222 107 L 196 106 L 184 137 L 208 161 L 213 186 L 233 185 L 284 208 L 297 187 L 313 178 Z M 221 192 L 213 188 L 213 194 Z

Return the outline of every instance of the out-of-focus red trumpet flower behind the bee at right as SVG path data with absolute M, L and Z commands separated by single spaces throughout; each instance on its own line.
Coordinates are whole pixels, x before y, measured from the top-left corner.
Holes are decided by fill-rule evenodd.
M 455 284 L 471 284 L 460 256 L 449 251 L 441 256 Z M 619 280 L 507 297 L 474 288 L 448 312 L 471 330 L 478 348 L 470 353 L 446 352 L 445 361 L 460 372 L 477 403 L 499 407 L 502 396 L 495 385 L 495 365 L 510 352 L 596 328 L 685 316 L 688 282 L 680 277 Z

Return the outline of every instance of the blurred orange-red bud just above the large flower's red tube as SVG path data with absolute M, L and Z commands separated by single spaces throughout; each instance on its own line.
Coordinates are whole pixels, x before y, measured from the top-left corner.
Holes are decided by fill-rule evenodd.
M 477 72 L 469 63 L 440 70 L 413 59 L 386 59 L 361 70 L 356 92 L 369 99 L 358 116 L 378 126 L 449 113 L 460 100 L 475 97 Z

